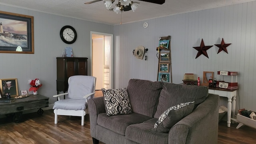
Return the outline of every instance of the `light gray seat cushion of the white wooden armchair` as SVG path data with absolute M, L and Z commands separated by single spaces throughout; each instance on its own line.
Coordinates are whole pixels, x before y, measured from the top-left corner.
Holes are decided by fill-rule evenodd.
M 58 100 L 54 102 L 53 109 L 85 110 L 86 107 L 87 107 L 86 100 L 76 100 L 76 99 L 66 98 L 64 100 Z

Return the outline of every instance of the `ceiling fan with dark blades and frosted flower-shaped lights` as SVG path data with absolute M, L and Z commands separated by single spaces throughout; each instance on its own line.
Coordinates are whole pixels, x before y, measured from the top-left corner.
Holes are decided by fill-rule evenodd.
M 102 0 L 93 0 L 90 2 L 86 2 L 84 4 L 92 4 L 94 2 L 100 2 Z M 144 2 L 151 2 L 154 4 L 164 4 L 165 0 L 140 0 Z M 116 7 L 113 9 L 110 9 L 112 4 L 115 2 L 115 0 L 103 0 L 106 8 L 108 10 L 113 10 L 117 14 L 120 14 L 122 11 L 129 11 L 129 10 L 136 10 L 138 5 L 140 4 L 139 2 L 133 2 L 131 0 L 118 0 L 118 4 L 116 4 Z

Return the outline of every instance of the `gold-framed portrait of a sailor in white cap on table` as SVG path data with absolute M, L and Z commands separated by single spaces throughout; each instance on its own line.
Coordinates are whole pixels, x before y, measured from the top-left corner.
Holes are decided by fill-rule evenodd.
M 0 88 L 3 98 L 7 98 L 8 93 L 11 97 L 19 95 L 17 78 L 0 79 Z

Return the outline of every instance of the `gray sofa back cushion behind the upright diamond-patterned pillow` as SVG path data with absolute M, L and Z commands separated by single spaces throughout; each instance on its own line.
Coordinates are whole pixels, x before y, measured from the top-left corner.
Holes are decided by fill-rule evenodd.
M 132 111 L 153 117 L 162 90 L 162 83 L 152 82 L 150 80 L 130 79 L 127 92 Z

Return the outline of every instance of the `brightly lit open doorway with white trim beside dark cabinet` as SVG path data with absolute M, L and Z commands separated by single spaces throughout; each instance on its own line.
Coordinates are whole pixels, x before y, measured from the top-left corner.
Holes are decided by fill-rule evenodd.
M 96 77 L 95 90 L 112 88 L 113 34 L 91 32 L 91 74 Z

